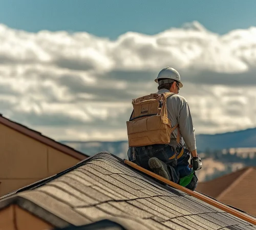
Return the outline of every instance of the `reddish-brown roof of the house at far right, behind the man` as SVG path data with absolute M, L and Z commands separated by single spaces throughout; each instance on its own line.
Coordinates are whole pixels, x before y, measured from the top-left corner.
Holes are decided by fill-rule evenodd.
M 256 168 L 247 167 L 199 183 L 197 191 L 256 216 Z

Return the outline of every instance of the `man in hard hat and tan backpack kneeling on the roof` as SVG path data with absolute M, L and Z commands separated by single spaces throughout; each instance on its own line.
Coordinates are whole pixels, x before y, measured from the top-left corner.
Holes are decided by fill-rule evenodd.
M 194 191 L 198 183 L 195 171 L 202 168 L 202 162 L 188 103 L 178 95 L 183 87 L 180 74 L 168 66 L 159 72 L 155 82 L 157 93 L 133 99 L 134 109 L 126 122 L 128 158 Z

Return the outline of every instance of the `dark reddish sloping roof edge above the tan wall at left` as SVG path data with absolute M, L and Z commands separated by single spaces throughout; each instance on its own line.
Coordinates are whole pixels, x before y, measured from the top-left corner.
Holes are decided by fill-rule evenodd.
M 14 121 L 11 121 L 10 119 L 3 117 L 3 115 L 1 113 L 0 113 L 0 124 L 3 124 L 11 129 L 14 129 L 17 132 L 27 135 L 38 142 L 41 142 L 45 145 L 48 145 L 54 149 L 61 151 L 63 153 L 71 155 L 77 159 L 82 160 L 82 159 L 88 157 L 88 155 L 86 155 L 82 152 L 79 152 L 67 145 L 56 142 L 55 140 L 51 139 L 50 137 L 42 135 L 38 131 L 35 131 L 35 130 L 30 129 L 22 124 L 16 123 Z

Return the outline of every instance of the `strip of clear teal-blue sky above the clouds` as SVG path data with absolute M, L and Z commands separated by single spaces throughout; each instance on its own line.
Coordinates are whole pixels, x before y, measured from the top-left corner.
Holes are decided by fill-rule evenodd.
M 256 26 L 255 0 L 0 0 L 0 23 L 29 32 L 87 31 L 115 39 L 155 34 L 198 20 L 219 34 Z

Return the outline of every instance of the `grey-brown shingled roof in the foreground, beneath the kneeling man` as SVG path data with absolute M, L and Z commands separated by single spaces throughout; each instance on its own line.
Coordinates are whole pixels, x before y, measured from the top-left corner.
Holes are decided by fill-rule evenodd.
M 7 194 L 0 199 L 0 210 L 11 204 L 58 228 L 96 225 L 108 219 L 123 227 L 115 229 L 256 229 L 255 225 L 162 185 L 108 152 Z

